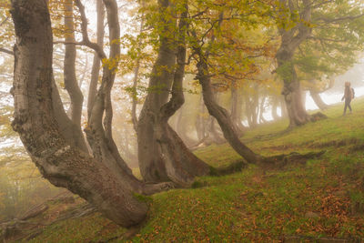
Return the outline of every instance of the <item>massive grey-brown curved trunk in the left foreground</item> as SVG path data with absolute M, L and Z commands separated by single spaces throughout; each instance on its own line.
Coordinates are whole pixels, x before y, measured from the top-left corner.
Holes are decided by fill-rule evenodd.
M 53 105 L 52 30 L 43 0 L 12 1 L 15 23 L 15 120 L 35 165 L 57 187 L 66 187 L 124 227 L 140 223 L 147 205 L 106 166 L 67 143 Z

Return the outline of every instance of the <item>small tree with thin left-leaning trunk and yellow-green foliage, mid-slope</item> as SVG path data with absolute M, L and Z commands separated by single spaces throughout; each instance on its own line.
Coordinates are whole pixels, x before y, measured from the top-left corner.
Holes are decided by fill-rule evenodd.
M 257 26 L 258 22 L 264 23 L 262 20 L 264 18 L 257 18 L 257 16 L 265 15 L 268 5 L 249 1 L 225 3 L 226 5 L 215 5 L 210 1 L 199 4 L 196 9 L 197 17 L 189 33 L 192 36 L 190 48 L 196 58 L 196 78 L 202 86 L 205 105 L 208 113 L 217 119 L 230 146 L 248 163 L 257 163 L 262 157 L 240 141 L 236 126 L 231 121 L 227 109 L 217 104 L 212 89 L 212 77 L 217 80 L 221 76 L 227 79 L 245 79 L 258 72 L 253 57 L 265 55 L 268 50 L 266 43 L 263 41 L 262 44 L 249 45 L 243 37 L 245 37 L 244 31 L 247 25 Z M 200 9 L 209 10 L 201 11 Z M 254 37 L 256 38 L 257 35 Z M 222 50 L 228 55 L 219 55 Z

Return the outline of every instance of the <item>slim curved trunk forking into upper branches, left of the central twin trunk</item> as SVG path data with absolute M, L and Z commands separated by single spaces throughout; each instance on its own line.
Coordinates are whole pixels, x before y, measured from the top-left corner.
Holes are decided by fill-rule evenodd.
M 107 11 L 107 24 L 109 32 L 110 56 L 109 59 L 115 61 L 120 54 L 120 46 L 115 41 L 120 38 L 120 27 L 118 23 L 117 4 L 115 0 L 104 0 Z M 86 15 L 84 5 L 79 0 L 76 0 L 76 5 L 81 13 L 83 41 L 88 46 L 93 46 L 98 50 L 99 56 L 106 56 L 101 46 L 89 42 L 86 26 Z M 104 57 L 106 58 L 106 57 Z M 144 185 L 141 181 L 133 176 L 132 171 L 127 167 L 126 162 L 120 156 L 112 136 L 112 118 L 113 109 L 111 106 L 111 89 L 114 85 L 116 76 L 116 66 L 105 65 L 103 68 L 103 76 L 101 86 L 97 92 L 91 114 L 86 127 L 86 136 L 90 147 L 92 148 L 94 157 L 108 167 L 116 177 L 124 178 L 127 187 L 134 191 L 143 194 L 151 194 L 160 190 L 165 190 L 171 185 Z

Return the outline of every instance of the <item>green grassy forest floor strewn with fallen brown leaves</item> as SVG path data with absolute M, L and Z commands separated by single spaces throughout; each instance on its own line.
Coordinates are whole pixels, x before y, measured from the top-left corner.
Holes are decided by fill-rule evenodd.
M 154 195 L 148 201 L 146 223 L 132 238 L 123 239 L 124 228 L 93 210 L 77 215 L 77 208 L 86 204 L 71 196 L 75 200 L 53 200 L 48 210 L 29 219 L 44 226 L 38 225 L 37 231 L 29 227 L 33 235 L 29 233 L 26 241 L 330 242 L 335 238 L 335 242 L 360 242 L 364 240 L 364 99 L 355 99 L 352 107 L 353 114 L 342 116 L 343 104 L 331 106 L 324 112 L 328 119 L 285 133 L 287 120 L 248 131 L 242 140 L 263 156 L 326 152 L 306 164 L 269 169 L 251 165 L 229 176 L 198 177 L 195 188 Z M 215 167 L 241 159 L 228 145 L 205 147 L 196 154 Z M 67 213 L 71 217 L 55 221 Z

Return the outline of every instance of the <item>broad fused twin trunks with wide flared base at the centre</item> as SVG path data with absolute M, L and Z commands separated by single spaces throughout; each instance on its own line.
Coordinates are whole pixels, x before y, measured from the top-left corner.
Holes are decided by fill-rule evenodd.
M 176 65 L 176 46 L 173 46 L 174 40 L 170 39 L 171 36 L 166 36 L 166 33 L 173 31 L 170 28 L 176 23 L 172 21 L 173 18 L 167 16 L 172 7 L 169 1 L 160 0 L 158 3 L 161 13 L 164 13 L 160 19 L 164 30 L 160 34 L 157 61 L 149 80 L 149 88 L 161 90 L 148 93 L 139 116 L 137 127 L 139 167 L 147 182 L 172 180 L 177 185 L 187 186 L 192 182 L 193 176 L 207 174 L 208 166 L 187 149 L 177 133 L 167 124 L 168 118 L 184 102 L 182 93 L 184 63 L 178 61 L 176 73 L 173 72 Z M 181 18 L 180 22 L 184 22 L 182 20 L 184 19 Z M 178 50 L 180 47 L 178 45 Z M 167 103 L 168 91 L 173 80 L 172 98 Z

